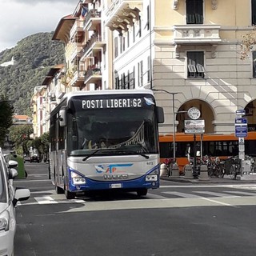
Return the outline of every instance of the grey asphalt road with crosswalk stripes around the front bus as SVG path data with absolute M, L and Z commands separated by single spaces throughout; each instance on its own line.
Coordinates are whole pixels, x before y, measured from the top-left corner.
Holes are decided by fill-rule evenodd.
M 17 208 L 16 256 L 255 255 L 256 184 L 162 181 L 146 197 L 108 193 L 66 200 L 45 163 L 14 181 L 31 197 Z

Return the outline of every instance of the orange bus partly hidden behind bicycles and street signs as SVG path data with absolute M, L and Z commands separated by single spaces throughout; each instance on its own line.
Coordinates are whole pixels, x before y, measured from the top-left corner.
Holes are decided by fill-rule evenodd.
M 173 141 L 173 134 L 159 135 L 161 162 L 172 162 L 172 156 L 174 155 Z M 239 152 L 238 138 L 235 134 L 197 134 L 194 140 L 194 134 L 176 133 L 175 147 L 175 157 L 180 172 L 184 170 L 186 164 L 190 163 L 189 155 L 192 158 L 194 158 L 194 155 L 198 158 L 207 155 L 225 160 L 238 155 Z M 248 132 L 248 136 L 245 138 L 245 154 L 255 157 L 255 148 L 256 132 L 251 131 Z

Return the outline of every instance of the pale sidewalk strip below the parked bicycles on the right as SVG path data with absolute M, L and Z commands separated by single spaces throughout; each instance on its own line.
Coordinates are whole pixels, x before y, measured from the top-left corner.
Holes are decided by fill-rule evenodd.
M 256 184 L 256 174 L 243 174 L 242 177 L 238 176 L 236 179 L 230 178 L 230 175 L 225 175 L 224 178 L 211 178 L 209 180 L 200 180 L 200 178 L 185 178 L 185 176 L 179 176 L 179 178 L 172 178 L 171 176 L 162 175 L 160 178 L 165 181 L 171 182 L 188 182 L 188 183 L 231 183 L 231 184 L 242 184 L 242 183 L 254 183 Z

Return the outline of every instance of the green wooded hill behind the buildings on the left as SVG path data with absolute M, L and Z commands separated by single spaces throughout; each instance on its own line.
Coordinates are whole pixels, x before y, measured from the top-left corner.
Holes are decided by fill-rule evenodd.
M 50 67 L 64 62 L 64 45 L 52 40 L 54 32 L 32 34 L 0 53 L 0 95 L 14 113 L 31 115 L 34 86 L 41 86 Z

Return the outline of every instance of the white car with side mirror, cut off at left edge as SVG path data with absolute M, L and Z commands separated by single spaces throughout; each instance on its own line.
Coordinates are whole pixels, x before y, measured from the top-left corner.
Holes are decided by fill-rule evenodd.
M 17 166 L 15 161 L 6 163 L 0 148 L 0 256 L 14 255 L 15 207 L 18 201 L 30 198 L 30 190 L 13 186 Z

